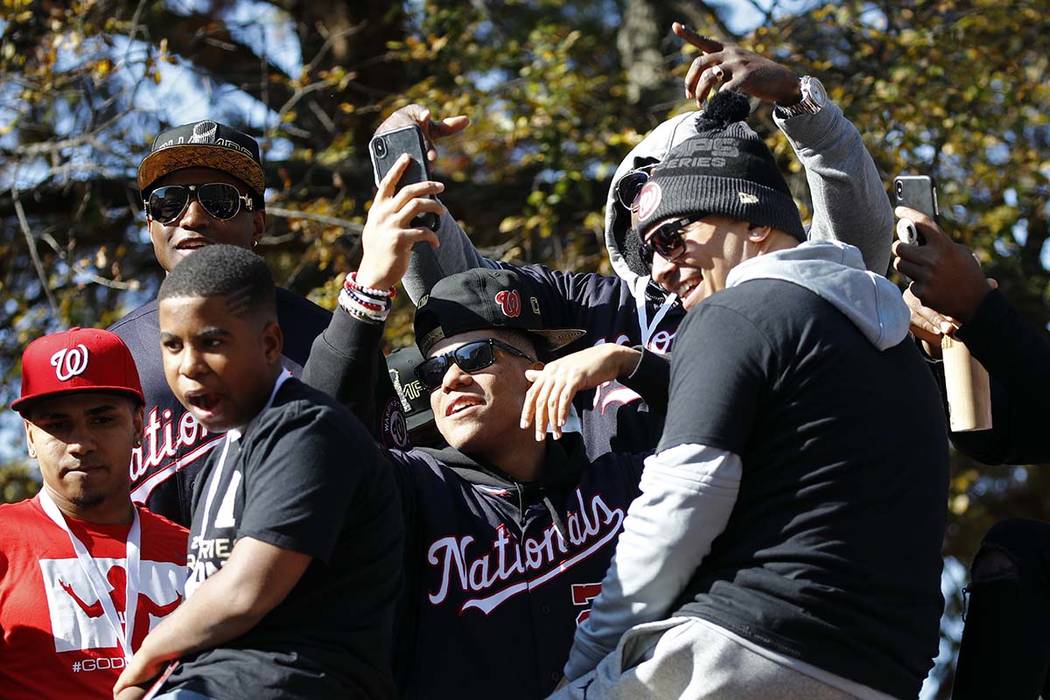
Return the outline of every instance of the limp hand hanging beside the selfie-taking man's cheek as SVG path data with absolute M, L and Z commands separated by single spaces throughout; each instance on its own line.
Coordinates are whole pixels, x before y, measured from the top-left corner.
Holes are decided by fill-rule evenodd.
M 525 378 L 532 386 L 525 393 L 522 429 L 534 423 L 536 439 L 541 441 L 549 424 L 554 438 L 561 438 L 576 393 L 630 374 L 640 357 L 633 347 L 603 343 L 549 362 L 543 369 L 526 369 Z

